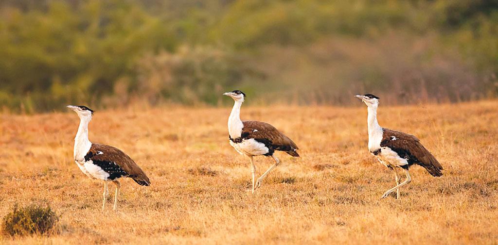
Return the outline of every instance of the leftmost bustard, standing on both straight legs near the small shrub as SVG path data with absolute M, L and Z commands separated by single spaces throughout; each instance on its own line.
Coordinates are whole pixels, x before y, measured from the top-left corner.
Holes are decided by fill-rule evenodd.
M 118 208 L 118 194 L 121 177 L 130 177 L 139 185 L 149 186 L 150 180 L 142 169 L 118 148 L 108 145 L 94 144 L 88 140 L 88 124 L 92 120 L 94 111 L 86 106 L 68 105 L 80 117 L 80 126 L 74 138 L 74 161 L 81 171 L 93 179 L 104 180 L 104 202 L 102 210 L 109 196 L 108 181 L 116 184 L 114 210 Z

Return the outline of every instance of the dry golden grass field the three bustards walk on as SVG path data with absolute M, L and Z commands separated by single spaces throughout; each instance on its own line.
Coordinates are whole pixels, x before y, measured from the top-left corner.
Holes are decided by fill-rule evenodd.
M 61 232 L 0 244 L 497 244 L 498 101 L 380 106 L 382 126 L 417 135 L 445 168 L 434 178 L 413 166 L 400 200 L 379 200 L 394 179 L 368 152 L 365 106 L 243 106 L 243 119 L 273 124 L 302 156 L 277 153 L 282 164 L 254 195 L 249 161 L 228 143 L 229 113 L 98 111 L 90 140 L 122 149 L 152 181 L 122 180 L 118 212 L 112 202 L 101 211 L 102 182 L 73 162 L 74 112 L 1 115 L 0 216 L 47 202 Z M 255 160 L 259 174 L 272 163 Z

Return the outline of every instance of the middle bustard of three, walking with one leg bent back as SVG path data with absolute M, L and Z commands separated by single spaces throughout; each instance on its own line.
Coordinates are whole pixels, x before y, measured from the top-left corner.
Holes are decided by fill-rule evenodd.
M 223 95 L 232 97 L 235 100 L 234 108 L 228 118 L 228 132 L 230 145 L 232 145 L 241 155 L 249 157 L 252 172 L 252 193 L 261 186 L 261 181 L 268 173 L 278 166 L 278 160 L 273 153 L 283 151 L 292 157 L 299 157 L 297 151 L 299 148 L 296 144 L 284 134 L 280 133 L 275 127 L 257 121 L 241 121 L 241 105 L 244 102 L 246 94 L 240 90 L 226 92 Z M 272 157 L 275 160 L 266 172 L 264 172 L 255 182 L 256 166 L 252 157 L 264 155 Z

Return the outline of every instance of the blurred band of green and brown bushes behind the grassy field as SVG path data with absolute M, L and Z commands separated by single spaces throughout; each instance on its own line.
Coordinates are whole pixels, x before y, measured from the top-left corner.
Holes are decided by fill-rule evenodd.
M 497 32 L 487 0 L 3 0 L 0 107 L 496 97 Z

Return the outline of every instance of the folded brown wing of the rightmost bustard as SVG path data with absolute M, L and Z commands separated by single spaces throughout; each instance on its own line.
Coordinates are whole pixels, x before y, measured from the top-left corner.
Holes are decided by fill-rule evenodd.
M 399 157 L 407 159 L 409 164 L 417 163 L 423 166 L 432 176 L 443 175 L 441 163 L 411 134 L 383 129 L 380 146 L 395 151 Z

